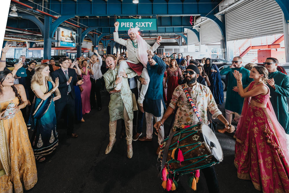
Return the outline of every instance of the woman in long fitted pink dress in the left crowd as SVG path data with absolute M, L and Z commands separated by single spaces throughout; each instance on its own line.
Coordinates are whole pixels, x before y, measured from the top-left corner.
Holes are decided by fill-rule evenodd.
M 91 82 L 90 82 L 90 74 L 93 75 L 93 71 L 89 69 L 90 64 L 87 63 L 86 60 L 83 60 L 81 62 L 82 68 L 80 69 L 82 78 L 83 78 L 83 84 L 81 84 L 81 87 L 83 88 L 83 91 L 81 92 L 81 101 L 82 101 L 82 114 L 90 112 L 90 91 L 91 91 Z

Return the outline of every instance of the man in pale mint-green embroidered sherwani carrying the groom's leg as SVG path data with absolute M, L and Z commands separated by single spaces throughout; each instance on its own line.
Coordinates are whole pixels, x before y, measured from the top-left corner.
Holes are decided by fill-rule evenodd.
M 109 122 L 110 142 L 105 150 L 105 154 L 110 153 L 116 141 L 115 132 L 116 132 L 117 120 L 124 119 L 125 131 L 127 135 L 127 138 L 126 138 L 127 139 L 127 157 L 131 158 L 133 154 L 132 120 L 134 118 L 134 113 L 133 113 L 134 95 L 132 95 L 131 93 L 127 78 L 133 78 L 137 74 L 132 69 L 127 68 L 125 72 L 124 71 L 120 72 L 121 77 L 117 77 L 118 66 L 116 66 L 116 58 L 113 55 L 107 55 L 105 57 L 105 64 L 109 68 L 109 70 L 103 75 L 106 90 L 109 92 L 113 90 L 117 84 L 122 83 L 121 92 L 110 94 L 110 102 L 108 105 L 108 111 L 110 115 L 110 122 Z

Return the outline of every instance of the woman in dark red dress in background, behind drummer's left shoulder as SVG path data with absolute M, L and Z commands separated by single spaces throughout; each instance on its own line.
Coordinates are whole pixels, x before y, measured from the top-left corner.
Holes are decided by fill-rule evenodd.
M 177 61 L 175 59 L 171 59 L 170 67 L 167 69 L 167 76 L 166 80 L 168 79 L 168 85 L 166 84 L 167 81 L 165 81 L 164 88 L 167 88 L 167 103 L 166 107 L 171 102 L 173 92 L 175 91 L 175 88 L 179 85 L 178 80 L 179 78 L 184 79 L 181 69 L 177 65 Z

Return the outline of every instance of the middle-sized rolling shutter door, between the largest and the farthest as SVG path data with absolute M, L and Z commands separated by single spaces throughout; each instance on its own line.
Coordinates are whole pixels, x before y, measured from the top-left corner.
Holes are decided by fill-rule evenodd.
M 217 16 L 221 20 L 221 15 Z M 204 23 L 200 24 L 201 29 L 201 44 L 210 44 L 210 43 L 220 43 L 222 39 L 222 33 L 218 25 L 207 19 Z

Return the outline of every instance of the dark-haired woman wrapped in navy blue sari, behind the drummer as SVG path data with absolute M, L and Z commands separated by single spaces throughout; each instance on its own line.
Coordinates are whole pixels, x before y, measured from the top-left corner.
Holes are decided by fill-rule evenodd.
M 214 96 L 214 99 L 218 105 L 224 102 L 224 90 L 221 80 L 221 75 L 218 67 L 212 63 L 211 58 L 207 58 L 204 64 L 205 73 L 208 75 L 210 80 L 210 90 Z

